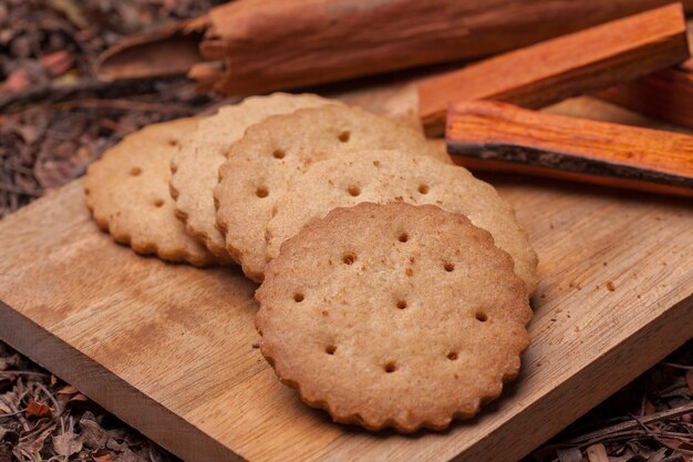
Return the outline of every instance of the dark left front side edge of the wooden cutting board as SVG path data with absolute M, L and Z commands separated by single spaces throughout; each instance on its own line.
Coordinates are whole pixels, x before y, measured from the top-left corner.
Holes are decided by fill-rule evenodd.
M 0 300 L 0 340 L 187 462 L 245 461 L 210 435 Z M 80 363 L 80 368 L 70 365 Z M 104 391 L 104 379 L 107 389 Z

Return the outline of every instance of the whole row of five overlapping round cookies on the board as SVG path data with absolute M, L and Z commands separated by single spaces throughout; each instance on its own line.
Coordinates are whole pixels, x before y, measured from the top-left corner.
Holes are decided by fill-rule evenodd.
M 411 127 L 249 97 L 127 136 L 84 185 L 116 242 L 261 283 L 262 355 L 338 422 L 444 429 L 519 372 L 536 254 L 496 191 Z

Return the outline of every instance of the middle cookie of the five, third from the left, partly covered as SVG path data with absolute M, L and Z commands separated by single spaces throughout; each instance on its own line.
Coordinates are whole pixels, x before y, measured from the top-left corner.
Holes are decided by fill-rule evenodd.
M 451 162 L 411 127 L 344 105 L 271 116 L 246 131 L 219 168 L 214 193 L 226 249 L 246 276 L 262 279 L 265 228 L 289 181 L 311 163 L 366 148 L 402 148 Z

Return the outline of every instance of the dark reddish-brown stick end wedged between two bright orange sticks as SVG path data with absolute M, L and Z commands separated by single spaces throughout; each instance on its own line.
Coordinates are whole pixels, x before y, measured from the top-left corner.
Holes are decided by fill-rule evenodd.
M 594 96 L 674 125 L 693 129 L 693 60 Z

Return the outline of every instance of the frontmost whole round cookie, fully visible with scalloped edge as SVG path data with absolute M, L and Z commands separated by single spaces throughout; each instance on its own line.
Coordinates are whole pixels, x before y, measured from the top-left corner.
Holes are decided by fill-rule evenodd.
M 281 381 L 369 430 L 472 418 L 529 346 L 508 254 L 433 205 L 332 211 L 283 244 L 256 298 L 260 349 Z

